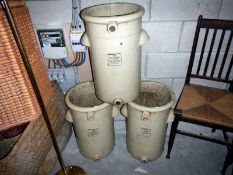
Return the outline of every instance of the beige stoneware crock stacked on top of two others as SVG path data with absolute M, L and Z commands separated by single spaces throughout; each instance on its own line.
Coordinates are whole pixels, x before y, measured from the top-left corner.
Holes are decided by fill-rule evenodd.
M 108 103 L 134 100 L 139 93 L 141 45 L 149 40 L 141 28 L 144 8 L 130 3 L 92 6 L 81 12 L 89 47 L 96 95 Z M 133 88 L 132 88 L 133 87 Z

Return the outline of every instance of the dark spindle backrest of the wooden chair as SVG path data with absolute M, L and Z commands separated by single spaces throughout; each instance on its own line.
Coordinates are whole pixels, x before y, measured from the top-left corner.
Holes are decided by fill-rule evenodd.
M 233 21 L 198 18 L 185 84 L 190 78 L 229 83 L 233 89 Z

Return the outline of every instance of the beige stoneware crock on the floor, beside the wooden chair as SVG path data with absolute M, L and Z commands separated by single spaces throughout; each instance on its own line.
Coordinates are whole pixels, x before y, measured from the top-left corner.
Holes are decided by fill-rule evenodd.
M 174 116 L 173 103 L 174 93 L 166 85 L 147 81 L 141 82 L 139 97 L 121 108 L 126 116 L 127 149 L 133 157 L 146 162 L 161 156 L 167 122 Z

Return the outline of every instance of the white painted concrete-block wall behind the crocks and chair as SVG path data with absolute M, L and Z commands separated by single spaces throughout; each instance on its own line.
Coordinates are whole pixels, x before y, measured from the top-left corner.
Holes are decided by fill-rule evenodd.
M 142 48 L 142 79 L 166 83 L 177 98 L 184 83 L 198 16 L 233 19 L 232 0 L 80 0 L 79 3 L 83 9 L 120 1 L 137 3 L 145 8 L 142 27 L 148 32 L 150 41 Z M 35 25 L 69 25 L 71 2 L 28 1 L 27 5 Z M 89 64 L 80 69 L 81 80 L 90 79 Z

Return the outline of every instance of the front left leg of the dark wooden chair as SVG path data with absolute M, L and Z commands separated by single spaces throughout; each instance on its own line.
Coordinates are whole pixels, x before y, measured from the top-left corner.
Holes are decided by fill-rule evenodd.
M 176 130 L 177 130 L 178 124 L 179 124 L 179 119 L 178 117 L 175 117 L 175 120 L 171 126 L 170 137 L 168 141 L 168 150 L 167 150 L 167 156 L 166 156 L 167 159 L 170 159 L 170 154 L 171 154 L 173 143 L 176 137 Z

